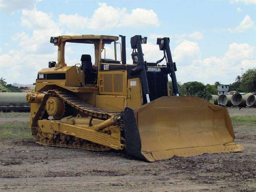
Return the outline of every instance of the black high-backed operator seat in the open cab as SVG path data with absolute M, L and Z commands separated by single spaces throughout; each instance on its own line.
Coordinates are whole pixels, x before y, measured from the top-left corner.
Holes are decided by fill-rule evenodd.
M 84 71 L 85 83 L 95 84 L 97 83 L 97 70 L 93 68 L 91 63 L 91 56 L 89 54 L 82 54 L 81 56 L 82 65 L 81 68 Z

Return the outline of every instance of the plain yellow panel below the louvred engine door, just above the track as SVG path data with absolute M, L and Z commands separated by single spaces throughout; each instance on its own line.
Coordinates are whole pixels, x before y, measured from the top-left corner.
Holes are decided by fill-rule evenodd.
M 95 107 L 110 111 L 124 110 L 124 96 L 96 95 L 95 98 Z

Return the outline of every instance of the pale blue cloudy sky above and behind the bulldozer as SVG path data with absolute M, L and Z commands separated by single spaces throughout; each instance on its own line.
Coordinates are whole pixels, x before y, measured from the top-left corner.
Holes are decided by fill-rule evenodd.
M 232 83 L 256 67 L 256 1 L 0 1 L 0 77 L 33 83 L 37 71 L 56 61 L 50 36 L 133 35 L 148 37 L 145 60 L 162 53 L 157 37 L 170 37 L 177 79 L 184 83 Z M 67 45 L 66 63 L 92 53 L 89 45 Z M 106 49 L 113 55 L 112 47 Z M 110 57 L 109 56 L 109 57 Z

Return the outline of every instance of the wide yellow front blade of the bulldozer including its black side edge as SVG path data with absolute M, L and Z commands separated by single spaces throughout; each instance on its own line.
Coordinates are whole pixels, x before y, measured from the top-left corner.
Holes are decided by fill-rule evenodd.
M 199 97 L 161 97 L 123 112 L 127 153 L 147 161 L 238 152 L 226 108 Z

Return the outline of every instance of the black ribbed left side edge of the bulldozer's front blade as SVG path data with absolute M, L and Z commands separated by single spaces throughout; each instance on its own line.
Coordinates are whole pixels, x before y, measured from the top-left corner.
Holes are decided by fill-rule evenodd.
M 141 153 L 140 133 L 133 109 L 124 109 L 123 122 L 127 154 L 147 160 Z

